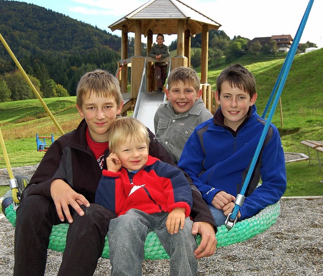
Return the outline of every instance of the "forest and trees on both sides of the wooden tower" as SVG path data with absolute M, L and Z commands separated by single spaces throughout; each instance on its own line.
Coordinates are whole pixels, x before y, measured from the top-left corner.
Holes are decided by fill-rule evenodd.
M 31 82 L 42 97 L 75 95 L 80 77 L 95 68 L 115 74 L 120 60 L 121 37 L 45 8 L 0 0 L 0 30 Z M 260 51 L 275 53 L 275 43 L 261 49 L 250 39 L 232 40 L 224 31 L 209 31 L 209 66 Z M 306 47 L 313 47 L 304 45 Z M 260 48 L 259 48 L 260 46 Z M 177 41 L 169 45 L 177 47 Z M 191 40 L 191 64 L 201 62 L 201 34 Z M 128 40 L 128 56 L 134 54 L 134 38 Z M 142 43 L 142 54 L 146 44 Z M 0 102 L 35 98 L 8 51 L 0 45 Z

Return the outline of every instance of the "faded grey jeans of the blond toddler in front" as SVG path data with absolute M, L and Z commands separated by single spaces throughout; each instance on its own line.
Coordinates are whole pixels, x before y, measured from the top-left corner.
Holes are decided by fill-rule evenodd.
M 171 235 L 166 228 L 169 213 L 146 214 L 137 209 L 111 220 L 108 232 L 111 275 L 141 275 L 144 243 L 148 232 L 155 231 L 170 256 L 170 275 L 196 275 L 196 241 L 191 234 L 193 222 L 185 219 L 184 229 Z

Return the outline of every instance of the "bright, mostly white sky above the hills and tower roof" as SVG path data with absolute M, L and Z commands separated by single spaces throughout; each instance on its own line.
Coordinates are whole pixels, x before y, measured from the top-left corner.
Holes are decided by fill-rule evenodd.
M 22 0 L 29 4 L 62 13 L 73 19 L 97 26 L 121 36 L 121 31 L 108 28 L 148 0 Z M 219 30 L 231 39 L 235 35 L 253 39 L 290 34 L 295 38 L 309 0 L 182 0 L 198 12 L 220 23 Z M 323 47 L 323 1 L 314 0 L 300 43 L 310 41 Z M 129 33 L 134 36 L 134 33 Z M 169 45 L 176 35 L 165 35 Z M 153 36 L 155 41 L 155 35 Z M 146 38 L 142 38 L 146 43 Z

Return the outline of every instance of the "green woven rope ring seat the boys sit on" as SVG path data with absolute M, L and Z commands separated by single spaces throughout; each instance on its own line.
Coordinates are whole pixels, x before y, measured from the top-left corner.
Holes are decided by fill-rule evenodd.
M 280 203 L 277 202 L 273 205 L 268 205 L 255 216 L 236 223 L 234 228 L 230 231 L 228 231 L 225 225 L 218 227 L 216 235 L 218 240 L 217 247 L 243 242 L 264 232 L 276 223 L 279 213 Z M 10 204 L 6 208 L 5 214 L 10 223 L 15 226 L 16 211 L 13 210 L 13 204 Z M 68 227 L 69 225 L 67 223 L 52 227 L 48 249 L 64 252 Z M 196 239 L 198 244 L 200 243 L 200 240 L 201 238 L 198 236 Z M 107 237 L 105 238 L 102 258 L 109 258 L 109 244 Z M 155 232 L 150 232 L 147 235 L 145 241 L 145 259 L 169 259 L 169 255 L 166 253 L 163 245 L 160 244 Z

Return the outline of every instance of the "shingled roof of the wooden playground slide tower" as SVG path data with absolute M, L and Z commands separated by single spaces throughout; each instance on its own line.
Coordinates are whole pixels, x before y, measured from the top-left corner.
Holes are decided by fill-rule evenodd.
M 204 24 L 209 30 L 218 30 L 222 26 L 179 0 L 151 0 L 111 24 L 109 28 L 112 31 L 122 30 L 122 26 L 126 25 L 128 32 L 135 32 L 137 20 L 141 21 L 141 32 L 145 36 L 149 30 L 153 34 L 177 34 L 178 20 L 184 21 L 185 28 L 190 30 L 191 35 L 201 33 Z

